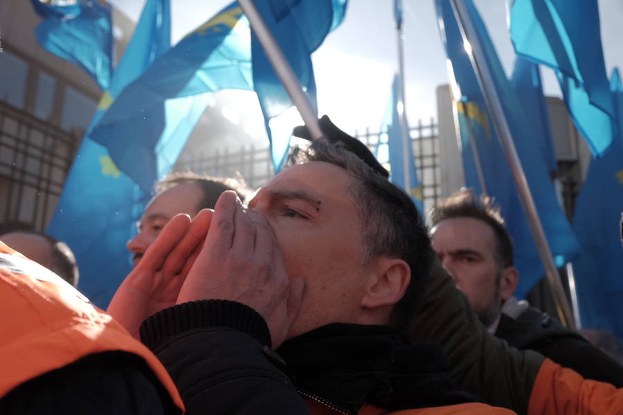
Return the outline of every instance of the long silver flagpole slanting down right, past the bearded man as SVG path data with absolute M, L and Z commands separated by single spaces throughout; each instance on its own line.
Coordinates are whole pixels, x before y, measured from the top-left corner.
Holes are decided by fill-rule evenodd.
M 473 26 L 471 19 L 469 18 L 469 11 L 463 0 L 451 0 L 451 6 L 454 10 L 454 15 L 458 26 L 461 31 L 461 35 L 466 45 L 471 46 L 471 53 L 469 58 L 471 65 L 473 66 L 476 77 L 478 78 L 478 84 L 482 89 L 483 95 L 485 95 L 485 102 L 487 102 L 487 109 L 491 114 L 491 118 L 494 123 L 496 132 L 498 133 L 498 139 L 502 146 L 506 157 L 508 159 L 509 167 L 515 179 L 517 190 L 521 199 L 521 205 L 530 223 L 530 230 L 532 230 L 532 237 L 534 237 L 534 243 L 539 250 L 539 256 L 543 262 L 543 268 L 545 268 L 545 277 L 548 284 L 552 289 L 552 295 L 554 296 L 554 303 L 556 304 L 559 318 L 563 325 L 575 330 L 575 321 L 573 319 L 573 313 L 568 299 L 565 295 L 562 282 L 554 264 L 554 258 L 548 240 L 545 238 L 545 232 L 543 232 L 543 226 L 539 219 L 539 214 L 536 212 L 536 206 L 534 205 L 534 199 L 530 194 L 530 188 L 527 185 L 523 167 L 517 155 L 514 142 L 512 140 L 512 134 L 510 132 L 507 120 L 502 110 L 502 104 L 500 97 L 492 82 L 491 73 L 489 68 L 484 64 L 485 57 L 482 55 L 482 48 L 478 42 L 476 36 L 476 29 Z

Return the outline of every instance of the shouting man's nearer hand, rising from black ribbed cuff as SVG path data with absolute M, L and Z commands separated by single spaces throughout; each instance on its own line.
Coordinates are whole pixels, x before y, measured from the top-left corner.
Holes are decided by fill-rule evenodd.
M 303 287 L 302 279 L 288 280 L 269 223 L 244 210 L 235 193 L 224 192 L 177 303 L 228 299 L 246 304 L 264 317 L 277 348 L 298 314 Z

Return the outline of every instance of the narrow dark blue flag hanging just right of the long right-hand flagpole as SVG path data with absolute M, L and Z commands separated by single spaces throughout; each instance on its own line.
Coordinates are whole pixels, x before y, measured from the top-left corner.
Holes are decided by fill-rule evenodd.
M 527 120 L 530 120 L 532 133 L 534 133 L 536 142 L 539 143 L 540 154 L 545 160 L 545 165 L 550 172 L 557 172 L 556 149 L 554 148 L 554 140 L 552 140 L 548 105 L 545 102 L 545 96 L 543 96 L 539 65 L 522 57 L 517 57 L 511 84 L 523 108 L 523 113 Z

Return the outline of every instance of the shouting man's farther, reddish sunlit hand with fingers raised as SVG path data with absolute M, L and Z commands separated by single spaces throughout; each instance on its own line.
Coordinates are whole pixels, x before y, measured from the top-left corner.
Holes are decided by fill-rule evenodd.
M 107 311 L 135 338 L 145 318 L 175 304 L 212 215 L 201 210 L 192 222 L 187 214 L 174 216 L 117 289 Z

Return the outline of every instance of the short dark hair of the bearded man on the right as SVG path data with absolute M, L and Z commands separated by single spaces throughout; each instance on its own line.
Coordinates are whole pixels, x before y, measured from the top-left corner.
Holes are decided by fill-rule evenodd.
M 513 266 L 513 242 L 505 228 L 500 209 L 489 196 L 478 197 L 473 190 L 458 190 L 439 203 L 431 212 L 433 226 L 453 218 L 473 218 L 485 222 L 494 231 L 496 261 L 500 268 Z

